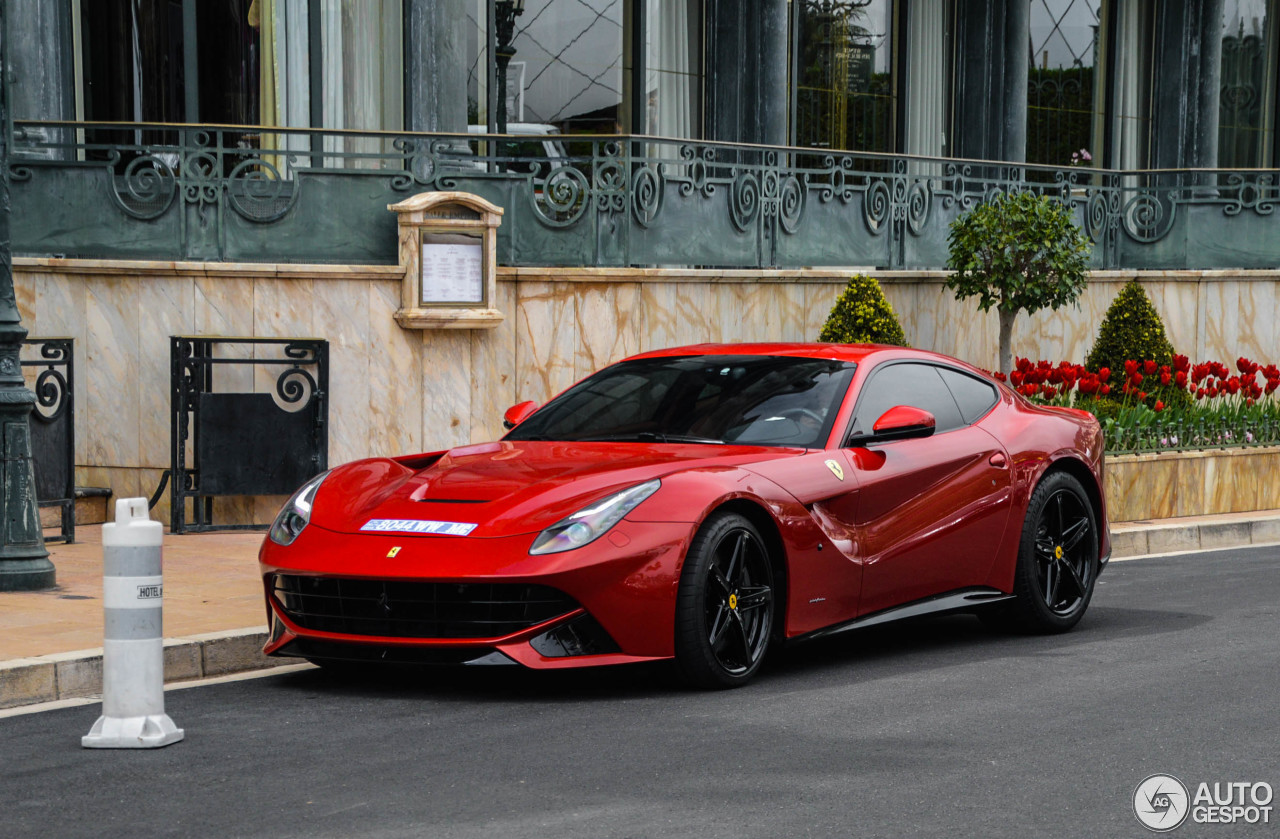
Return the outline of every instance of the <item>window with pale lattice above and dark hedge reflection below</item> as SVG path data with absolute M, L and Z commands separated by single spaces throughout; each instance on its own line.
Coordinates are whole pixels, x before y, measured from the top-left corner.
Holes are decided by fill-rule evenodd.
M 1102 0 L 1032 0 L 1027 163 L 1088 165 L 1098 151 L 1101 10 Z

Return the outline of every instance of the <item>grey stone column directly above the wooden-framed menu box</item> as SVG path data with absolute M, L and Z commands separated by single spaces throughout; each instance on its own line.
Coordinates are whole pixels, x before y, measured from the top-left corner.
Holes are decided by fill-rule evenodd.
M 467 131 L 463 0 L 404 0 L 404 128 Z

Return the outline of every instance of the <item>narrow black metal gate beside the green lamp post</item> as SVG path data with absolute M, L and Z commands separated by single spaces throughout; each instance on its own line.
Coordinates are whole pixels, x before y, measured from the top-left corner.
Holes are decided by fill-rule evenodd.
M 31 455 L 36 471 L 36 498 L 41 507 L 58 507 L 61 533 L 45 542 L 76 541 L 76 365 L 72 338 L 28 338 L 24 347 L 38 357 L 22 360 L 36 374 L 36 410 L 31 412 Z

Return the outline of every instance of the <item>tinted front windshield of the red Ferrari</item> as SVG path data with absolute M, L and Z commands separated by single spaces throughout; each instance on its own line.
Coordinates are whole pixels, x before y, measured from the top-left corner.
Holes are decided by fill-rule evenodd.
M 605 368 L 506 439 L 736 443 L 818 448 L 854 364 L 780 356 L 676 356 Z

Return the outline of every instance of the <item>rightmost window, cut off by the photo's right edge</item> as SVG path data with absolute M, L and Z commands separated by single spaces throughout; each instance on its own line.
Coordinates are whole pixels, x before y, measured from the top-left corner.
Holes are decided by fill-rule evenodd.
M 1276 49 L 1266 0 L 1226 0 L 1222 6 L 1222 78 L 1217 165 L 1271 165 L 1275 142 Z

